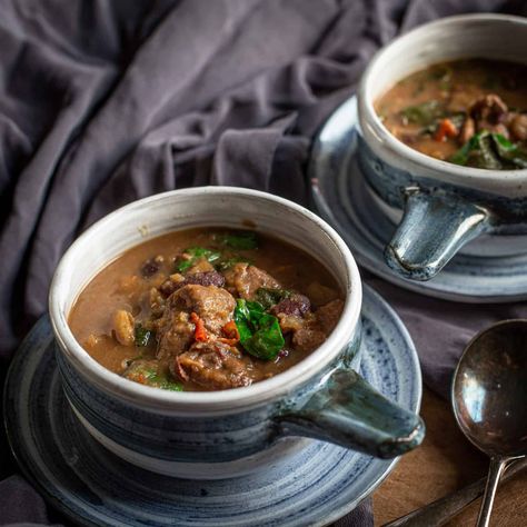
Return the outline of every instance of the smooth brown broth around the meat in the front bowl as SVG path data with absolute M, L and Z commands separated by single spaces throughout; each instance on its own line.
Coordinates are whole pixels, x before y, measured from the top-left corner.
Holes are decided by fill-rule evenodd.
M 137 320 L 150 316 L 149 291 L 159 286 L 168 275 L 173 272 L 173 257 L 187 247 L 212 247 L 215 233 L 223 229 L 191 229 L 171 232 L 140 243 L 102 269 L 79 295 L 69 314 L 69 326 L 80 345 L 102 366 L 116 374 L 122 374 L 125 361 L 138 356 L 136 347 L 119 344 L 112 335 L 112 314 L 117 309 L 132 312 Z M 299 292 L 310 290 L 318 282 L 326 298 L 314 298 L 311 304 L 326 302 L 341 298 L 335 278 L 328 270 L 307 252 L 285 243 L 278 239 L 259 236 L 258 249 L 239 250 L 255 266 L 275 277 L 286 289 Z M 149 258 L 162 256 L 165 264 L 158 275 L 143 278 L 140 269 Z M 327 289 L 325 289 L 327 288 Z M 324 295 L 322 295 L 324 297 Z M 142 348 L 146 358 L 155 358 L 156 345 Z M 298 361 L 305 352 L 289 349 L 287 356 L 279 360 L 264 361 L 243 355 L 243 360 L 255 369 L 255 381 L 277 375 Z M 185 386 L 186 390 L 203 389 L 192 382 Z

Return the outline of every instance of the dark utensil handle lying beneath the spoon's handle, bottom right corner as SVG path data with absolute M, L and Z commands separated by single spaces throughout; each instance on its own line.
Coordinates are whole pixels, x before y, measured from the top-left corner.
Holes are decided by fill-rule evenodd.
M 503 480 L 511 478 L 525 468 L 527 468 L 527 459 L 511 461 L 507 465 Z M 486 478 L 480 478 L 420 509 L 385 524 L 382 527 L 439 527 L 479 498 L 484 494 L 485 483 Z

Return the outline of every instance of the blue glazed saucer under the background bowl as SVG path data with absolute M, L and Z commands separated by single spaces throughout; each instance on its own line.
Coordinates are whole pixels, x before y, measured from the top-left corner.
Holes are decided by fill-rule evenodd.
M 351 97 L 322 126 L 311 151 L 309 176 L 316 209 L 354 251 L 359 265 L 406 289 L 463 302 L 527 299 L 527 255 L 481 258 L 456 255 L 428 281 L 405 279 L 385 264 L 395 231 L 357 163 L 357 101 Z

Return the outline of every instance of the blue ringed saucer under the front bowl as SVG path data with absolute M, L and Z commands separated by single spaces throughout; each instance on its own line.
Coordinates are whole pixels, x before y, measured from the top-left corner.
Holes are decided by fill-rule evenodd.
M 394 310 L 365 286 L 361 375 L 418 411 L 414 344 Z M 232 479 L 160 476 L 117 458 L 79 425 L 62 394 L 47 317 L 18 350 L 4 416 L 24 476 L 76 524 L 89 526 L 321 526 L 350 511 L 390 473 L 380 460 L 308 440 L 280 465 Z

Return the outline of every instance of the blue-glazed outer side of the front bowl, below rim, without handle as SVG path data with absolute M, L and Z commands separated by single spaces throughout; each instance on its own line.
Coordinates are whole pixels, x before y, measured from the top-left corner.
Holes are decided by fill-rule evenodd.
M 359 337 L 360 330 L 338 358 L 347 368 L 359 369 Z M 129 405 L 86 382 L 60 350 L 57 364 L 69 404 L 99 443 L 140 467 L 195 479 L 236 477 L 258 469 L 270 457 L 278 461 L 298 450 L 301 439 L 275 445 L 284 436 L 278 417 L 281 421 L 285 414 L 301 408 L 320 385 L 317 377 L 291 397 L 238 412 L 178 416 Z M 330 364 L 324 375 L 334 368 Z

